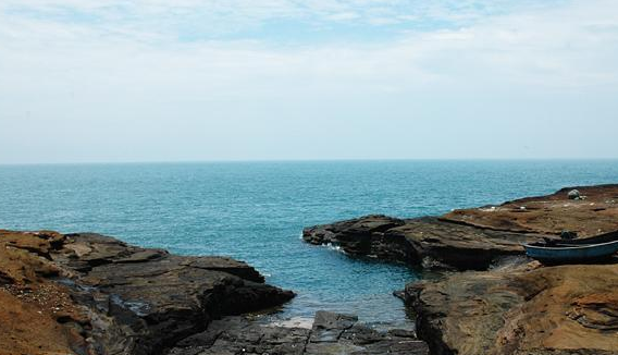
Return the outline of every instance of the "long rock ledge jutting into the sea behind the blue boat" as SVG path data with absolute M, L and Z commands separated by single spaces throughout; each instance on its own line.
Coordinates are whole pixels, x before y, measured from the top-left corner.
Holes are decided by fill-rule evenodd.
M 581 199 L 568 193 L 578 189 Z M 568 230 L 591 236 L 618 230 L 618 185 L 566 187 L 548 196 L 455 210 L 442 217 L 398 219 L 382 215 L 316 225 L 305 242 L 424 268 L 486 270 L 523 255 L 523 242 L 557 238 Z

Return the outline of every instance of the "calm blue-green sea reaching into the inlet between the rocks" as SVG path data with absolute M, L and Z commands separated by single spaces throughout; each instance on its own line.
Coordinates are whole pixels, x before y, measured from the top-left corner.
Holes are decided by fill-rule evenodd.
M 405 323 L 401 266 L 306 245 L 302 227 L 438 215 L 568 185 L 618 182 L 618 161 L 336 161 L 0 166 L 0 228 L 95 231 L 173 253 L 227 255 L 318 309 Z

